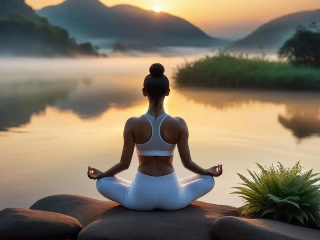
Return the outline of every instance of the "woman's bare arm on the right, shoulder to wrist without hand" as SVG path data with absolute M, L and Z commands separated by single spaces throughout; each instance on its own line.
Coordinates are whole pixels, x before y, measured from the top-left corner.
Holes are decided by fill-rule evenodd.
M 185 168 L 191 172 L 210 175 L 207 169 L 204 169 L 192 161 L 189 149 L 189 130 L 186 122 L 182 118 L 178 118 L 180 121 L 180 134 L 179 140 L 177 143 L 179 155 L 182 161 L 182 164 Z

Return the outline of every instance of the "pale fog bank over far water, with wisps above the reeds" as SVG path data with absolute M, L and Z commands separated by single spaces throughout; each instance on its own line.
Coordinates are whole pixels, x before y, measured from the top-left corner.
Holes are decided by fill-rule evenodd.
M 154 62 L 163 63 L 167 76 L 172 75 L 172 68 L 185 61 L 200 59 L 206 55 L 216 55 L 217 51 L 207 48 L 164 47 L 159 52 L 129 52 L 114 54 L 109 58 L 0 58 L 0 81 L 13 81 L 30 78 L 87 78 L 130 72 L 132 74 L 148 74 L 149 66 Z M 231 54 L 240 54 L 231 53 Z M 132 56 L 133 55 L 133 56 Z M 261 53 L 248 54 L 249 58 L 261 56 Z M 276 53 L 266 55 L 269 60 L 277 60 Z M 112 79 L 110 79 L 112 81 Z M 130 79 L 122 81 L 130 82 Z

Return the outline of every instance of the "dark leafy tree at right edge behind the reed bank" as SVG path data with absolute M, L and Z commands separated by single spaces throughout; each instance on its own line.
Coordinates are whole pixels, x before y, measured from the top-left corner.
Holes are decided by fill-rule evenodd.
M 307 27 L 299 25 L 295 34 L 278 51 L 296 66 L 320 68 L 320 25 L 311 22 Z

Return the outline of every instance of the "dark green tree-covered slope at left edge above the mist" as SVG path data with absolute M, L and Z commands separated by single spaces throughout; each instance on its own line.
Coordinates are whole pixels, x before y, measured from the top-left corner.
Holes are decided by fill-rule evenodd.
M 0 52 L 26 56 L 98 55 L 92 44 L 78 45 L 67 30 L 46 19 L 34 22 L 20 15 L 0 19 Z

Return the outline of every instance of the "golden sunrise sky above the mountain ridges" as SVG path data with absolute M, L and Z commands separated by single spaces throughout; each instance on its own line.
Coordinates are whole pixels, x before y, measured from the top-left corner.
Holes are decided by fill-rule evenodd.
M 35 9 L 64 0 L 26 0 Z M 273 18 L 320 9 L 319 0 L 100 0 L 107 6 L 131 4 L 182 17 L 213 36 L 243 37 Z

